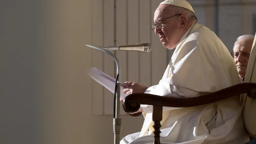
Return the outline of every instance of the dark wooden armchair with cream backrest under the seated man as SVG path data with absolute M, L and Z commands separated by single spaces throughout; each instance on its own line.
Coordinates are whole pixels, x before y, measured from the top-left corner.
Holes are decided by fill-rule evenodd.
M 233 96 L 241 95 L 243 105 L 244 126 L 250 137 L 256 136 L 256 36 L 252 46 L 246 75 L 242 84 L 230 86 L 217 92 L 193 98 L 170 98 L 145 93 L 133 93 L 124 98 L 123 108 L 127 113 L 133 113 L 140 109 L 140 105 L 153 105 L 152 120 L 154 121 L 154 144 L 160 144 L 160 121 L 162 120 L 163 107 L 194 107 L 206 105 Z M 141 114 L 130 114 L 139 116 Z

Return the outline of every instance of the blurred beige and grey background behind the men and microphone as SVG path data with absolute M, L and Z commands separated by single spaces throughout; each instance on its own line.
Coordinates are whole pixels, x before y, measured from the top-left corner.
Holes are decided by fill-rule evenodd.
M 113 93 L 87 75 L 114 77 L 114 61 L 85 47 L 150 43 L 148 53 L 113 52 L 121 81 L 158 84 L 174 50 L 150 26 L 163 0 L 1 0 L 0 143 L 111 144 Z M 238 36 L 255 34 L 255 0 L 188 0 L 198 23 L 230 53 Z M 232 53 L 231 53 L 232 54 Z M 143 116 L 121 107 L 121 139 L 139 132 Z

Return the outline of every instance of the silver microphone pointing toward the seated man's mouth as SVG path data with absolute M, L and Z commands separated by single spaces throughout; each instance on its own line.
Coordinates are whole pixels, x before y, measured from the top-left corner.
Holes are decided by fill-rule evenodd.
M 120 45 L 120 46 L 108 46 L 101 47 L 105 50 L 119 50 L 119 51 L 138 51 L 138 52 L 150 52 L 152 46 L 149 43 L 140 43 L 135 45 Z

